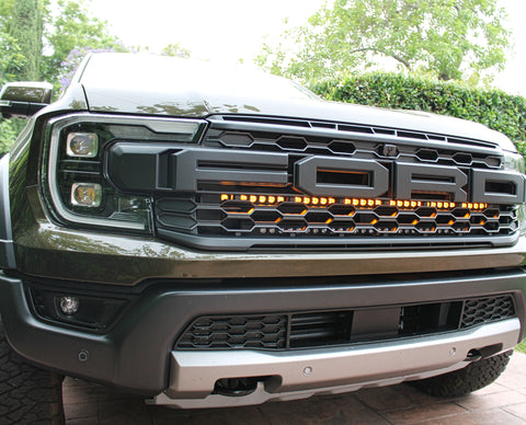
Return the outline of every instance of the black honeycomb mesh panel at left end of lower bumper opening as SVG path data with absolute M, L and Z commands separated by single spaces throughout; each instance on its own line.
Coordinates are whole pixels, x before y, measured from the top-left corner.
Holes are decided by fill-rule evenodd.
M 285 315 L 201 318 L 184 333 L 179 348 L 285 348 Z

